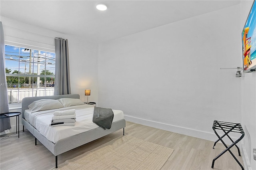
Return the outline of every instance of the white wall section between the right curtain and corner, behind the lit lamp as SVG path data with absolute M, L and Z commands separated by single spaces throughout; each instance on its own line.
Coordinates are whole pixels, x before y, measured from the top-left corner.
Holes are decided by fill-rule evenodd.
M 98 44 L 80 38 L 68 38 L 70 56 L 71 92 L 80 95 L 82 101 L 85 89 L 91 89 L 89 101 L 98 102 Z

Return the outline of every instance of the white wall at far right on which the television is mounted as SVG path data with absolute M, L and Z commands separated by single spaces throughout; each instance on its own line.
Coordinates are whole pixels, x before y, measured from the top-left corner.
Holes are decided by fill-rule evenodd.
M 253 1 L 241 1 L 240 30 L 248 17 Z M 242 51 L 241 51 L 242 55 Z M 253 159 L 253 148 L 256 148 L 256 73 L 246 73 L 242 77 L 242 126 L 248 131 L 242 140 L 243 160 L 246 169 L 256 169 L 256 160 Z M 250 136 L 250 140 L 248 140 Z

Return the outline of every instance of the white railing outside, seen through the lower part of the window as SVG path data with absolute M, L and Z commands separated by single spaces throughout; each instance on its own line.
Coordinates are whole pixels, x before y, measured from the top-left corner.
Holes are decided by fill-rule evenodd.
M 24 97 L 52 96 L 54 87 L 7 89 L 8 103 L 21 102 Z

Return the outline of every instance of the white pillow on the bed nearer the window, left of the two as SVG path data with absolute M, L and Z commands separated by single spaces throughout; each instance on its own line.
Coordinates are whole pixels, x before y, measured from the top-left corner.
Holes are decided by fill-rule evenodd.
M 63 105 L 60 103 L 60 101 L 53 100 L 53 99 L 41 99 L 38 101 L 34 101 L 30 105 L 28 105 L 28 108 L 30 109 L 31 113 L 37 112 L 37 111 L 59 109 L 62 107 Z

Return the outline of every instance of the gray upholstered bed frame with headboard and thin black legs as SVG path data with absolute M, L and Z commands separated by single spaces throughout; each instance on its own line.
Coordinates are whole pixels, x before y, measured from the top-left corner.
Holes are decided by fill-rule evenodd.
M 89 130 L 87 132 L 83 132 L 80 134 L 76 134 L 74 136 L 70 136 L 68 138 L 61 139 L 58 142 L 56 142 L 56 144 L 54 144 L 53 142 L 48 140 L 46 137 L 44 137 L 42 134 L 40 134 L 40 132 L 36 130 L 36 128 L 34 128 L 25 120 L 24 111 L 28 109 L 28 105 L 30 105 L 33 101 L 37 101 L 40 99 L 60 99 L 60 98 L 80 99 L 80 96 L 78 94 L 72 94 L 72 95 L 55 95 L 55 96 L 44 96 L 44 97 L 25 97 L 24 99 L 22 99 L 23 131 L 24 131 L 24 127 L 27 128 L 28 131 L 30 131 L 35 136 L 35 144 L 36 144 L 36 140 L 39 140 L 48 150 L 50 150 L 50 152 L 52 152 L 52 154 L 54 154 L 56 159 L 56 168 L 58 168 L 57 156 L 59 154 L 62 154 L 68 150 L 74 149 L 78 146 L 81 146 L 83 144 L 86 144 L 88 142 L 101 138 L 103 136 L 106 136 L 107 134 L 110 134 L 122 128 L 123 128 L 123 135 L 124 135 L 124 128 L 126 126 L 126 122 L 124 119 L 122 119 L 120 121 L 113 122 L 110 129 L 104 130 L 103 128 L 98 127 L 98 128 Z

